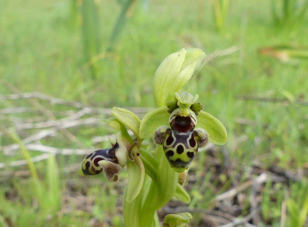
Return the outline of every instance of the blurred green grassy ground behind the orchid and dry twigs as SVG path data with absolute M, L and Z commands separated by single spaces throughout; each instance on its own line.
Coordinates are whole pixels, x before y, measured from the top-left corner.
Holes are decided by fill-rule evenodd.
M 237 51 L 209 59 L 183 89 L 198 93 L 204 110 L 228 132 L 227 144 L 215 148 L 213 155 L 221 162 L 219 168 L 213 168 L 209 152 L 194 162 L 191 174 L 197 179 L 188 184 L 188 206 L 217 208 L 215 196 L 250 179 L 252 168 L 268 171 L 274 166 L 282 170 L 280 175 L 296 177 L 286 176 L 287 182 L 269 178 L 262 186 L 259 226 L 307 226 L 307 7 L 308 1 L 279 0 L 2 0 L 0 94 L 16 93 L 13 86 L 21 93 L 40 92 L 95 108 L 154 107 L 152 79 L 166 56 L 183 47 L 201 48 L 208 56 L 233 47 Z M 32 105 L 0 101 L 2 109 Z M 69 110 L 41 105 L 58 119 L 57 113 Z M 42 112 L 38 106 L 34 109 L 2 111 L 0 123 L 11 130 L 21 119 Z M 6 154 L 5 146 L 35 131 L 15 130 L 10 134 L 2 129 L 0 134 L 0 162 L 5 164 L 0 226 L 123 226 L 125 171 L 115 184 L 103 176 L 81 178 L 63 169 L 81 163 L 83 156 L 76 154 L 51 156 L 34 167 L 12 167 L 9 162 L 26 159 L 27 152 L 31 157 L 40 154 L 30 149 Z M 61 133 L 40 142 L 59 148 L 106 148 L 107 143 L 94 144 L 92 138 L 110 133 L 100 121 L 67 129 L 66 135 L 78 142 Z M 14 174 L 29 169 L 31 177 Z M 235 216 L 249 213 L 249 189 L 242 194 L 244 202 Z M 191 226 L 204 226 L 199 216 L 194 215 Z

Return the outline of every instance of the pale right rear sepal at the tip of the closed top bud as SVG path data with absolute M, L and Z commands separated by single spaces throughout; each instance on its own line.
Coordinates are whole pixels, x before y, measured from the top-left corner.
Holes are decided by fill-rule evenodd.
M 184 68 L 186 68 L 188 65 L 196 63 L 195 70 L 193 72 L 192 77 L 195 76 L 199 72 L 200 68 L 202 67 L 205 57 L 206 55 L 201 49 L 198 49 L 198 48 L 186 49 L 185 60 L 182 64 L 181 71 Z

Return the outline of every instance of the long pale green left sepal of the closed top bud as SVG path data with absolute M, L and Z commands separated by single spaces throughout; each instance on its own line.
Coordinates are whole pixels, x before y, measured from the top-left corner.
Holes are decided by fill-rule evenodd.
M 153 96 L 156 107 L 165 105 L 173 83 L 180 73 L 185 54 L 186 50 L 180 49 L 167 56 L 157 68 L 153 79 Z

